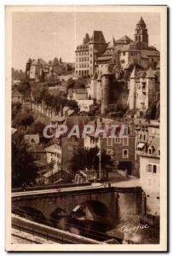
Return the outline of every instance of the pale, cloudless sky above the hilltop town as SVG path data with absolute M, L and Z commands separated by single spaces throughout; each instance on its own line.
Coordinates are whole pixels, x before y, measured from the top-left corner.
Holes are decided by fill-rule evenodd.
M 158 13 L 108 12 L 15 12 L 12 20 L 12 66 L 25 70 L 29 58 L 54 57 L 74 62 L 75 49 L 86 32 L 101 30 L 106 42 L 129 36 L 134 39 L 135 26 L 142 16 L 149 34 L 149 45 L 160 49 Z

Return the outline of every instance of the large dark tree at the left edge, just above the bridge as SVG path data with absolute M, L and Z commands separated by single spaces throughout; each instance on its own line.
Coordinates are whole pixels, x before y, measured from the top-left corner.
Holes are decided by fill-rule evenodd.
M 12 137 L 12 187 L 34 183 L 37 171 L 32 152 L 23 136 L 16 132 Z

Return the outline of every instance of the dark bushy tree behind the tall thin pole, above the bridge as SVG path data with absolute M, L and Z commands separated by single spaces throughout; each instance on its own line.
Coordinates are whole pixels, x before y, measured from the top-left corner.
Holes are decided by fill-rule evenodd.
M 106 154 L 105 150 L 101 152 L 101 168 L 102 170 L 110 171 L 113 166 L 112 158 Z M 99 170 L 99 148 L 81 148 L 76 150 L 71 160 L 72 172 L 75 174 L 79 170 L 85 168 L 91 169 L 94 167 L 95 171 Z

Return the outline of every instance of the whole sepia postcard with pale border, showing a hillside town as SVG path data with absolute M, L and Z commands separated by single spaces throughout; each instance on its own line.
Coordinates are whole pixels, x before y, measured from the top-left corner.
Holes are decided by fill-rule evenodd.
M 6 6 L 6 250 L 167 252 L 167 6 Z

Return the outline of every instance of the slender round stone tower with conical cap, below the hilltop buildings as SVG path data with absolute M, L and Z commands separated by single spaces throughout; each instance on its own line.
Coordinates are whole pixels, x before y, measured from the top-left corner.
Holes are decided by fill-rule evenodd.
M 104 67 L 101 74 L 101 113 L 106 113 L 109 108 L 111 77 L 109 66 Z

